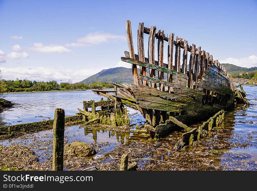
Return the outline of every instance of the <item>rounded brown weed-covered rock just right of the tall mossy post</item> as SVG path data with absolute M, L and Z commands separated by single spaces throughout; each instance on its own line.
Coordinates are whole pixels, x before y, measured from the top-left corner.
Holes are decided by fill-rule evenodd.
M 88 143 L 83 142 L 73 142 L 64 147 L 64 155 L 66 156 L 87 157 L 95 153 L 95 150 Z

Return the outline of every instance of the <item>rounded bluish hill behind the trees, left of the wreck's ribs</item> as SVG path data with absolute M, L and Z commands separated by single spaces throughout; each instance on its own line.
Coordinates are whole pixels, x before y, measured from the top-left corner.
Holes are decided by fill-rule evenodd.
M 102 70 L 97 74 L 82 80 L 79 83 L 91 82 L 119 82 L 119 83 L 133 83 L 131 68 L 117 67 Z

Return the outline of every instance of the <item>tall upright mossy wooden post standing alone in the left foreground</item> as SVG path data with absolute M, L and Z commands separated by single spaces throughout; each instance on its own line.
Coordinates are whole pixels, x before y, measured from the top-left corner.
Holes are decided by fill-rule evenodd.
M 64 109 L 56 108 L 53 122 L 53 171 L 63 170 Z

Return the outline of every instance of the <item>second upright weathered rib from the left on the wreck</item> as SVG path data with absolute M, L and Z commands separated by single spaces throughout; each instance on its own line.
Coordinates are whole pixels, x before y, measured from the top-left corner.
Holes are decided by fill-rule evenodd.
M 138 24 L 138 59 L 145 62 L 145 50 L 144 50 L 144 23 Z M 147 76 L 146 68 L 140 66 L 140 73 Z M 148 85 L 147 81 L 142 80 L 143 85 Z

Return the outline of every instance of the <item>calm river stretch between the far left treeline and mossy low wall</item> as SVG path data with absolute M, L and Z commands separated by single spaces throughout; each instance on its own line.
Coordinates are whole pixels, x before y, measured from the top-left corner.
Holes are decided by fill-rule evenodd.
M 64 109 L 66 116 L 75 115 L 79 112 L 77 108 L 83 108 L 83 101 L 100 101 L 101 97 L 91 90 L 6 94 L 5 99 L 15 105 L 1 112 L 0 122 L 2 125 L 15 125 L 53 119 L 55 108 Z M 135 113 L 131 108 L 127 110 L 129 113 Z M 138 120 L 144 121 L 143 118 Z

